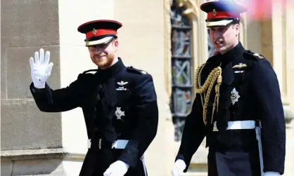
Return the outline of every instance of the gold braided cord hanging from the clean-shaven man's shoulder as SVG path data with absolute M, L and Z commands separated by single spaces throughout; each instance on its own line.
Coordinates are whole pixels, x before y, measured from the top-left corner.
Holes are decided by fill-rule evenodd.
M 203 122 L 206 125 L 207 124 L 207 121 L 206 121 L 207 104 L 208 104 L 208 101 L 210 99 L 210 93 L 211 93 L 213 85 L 215 84 L 215 81 L 217 81 L 217 85 L 215 85 L 215 102 L 213 103 L 212 118 L 213 118 L 213 115 L 215 113 L 215 106 L 217 106 L 217 111 L 218 111 L 218 107 L 219 107 L 219 86 L 222 84 L 222 68 L 221 67 L 216 67 L 215 69 L 212 69 L 210 74 L 207 76 L 207 79 L 205 80 L 205 83 L 203 84 L 203 86 L 200 86 L 200 75 L 201 75 L 201 72 L 202 72 L 202 69 L 203 69 L 204 66 L 205 66 L 205 64 L 200 65 L 196 69 L 195 92 L 200 94 L 202 105 L 203 105 L 203 98 L 202 98 L 201 93 L 204 94 L 205 102 L 204 102 L 204 105 L 203 105 Z M 206 90 L 207 90 L 207 93 L 205 93 Z M 212 118 L 211 118 L 211 123 L 212 123 Z

